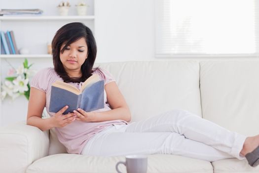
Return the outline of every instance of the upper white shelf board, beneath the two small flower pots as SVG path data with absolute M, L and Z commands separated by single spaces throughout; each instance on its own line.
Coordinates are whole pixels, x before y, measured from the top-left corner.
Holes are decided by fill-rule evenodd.
M 94 16 L 0 16 L 2 21 L 10 20 L 94 20 Z

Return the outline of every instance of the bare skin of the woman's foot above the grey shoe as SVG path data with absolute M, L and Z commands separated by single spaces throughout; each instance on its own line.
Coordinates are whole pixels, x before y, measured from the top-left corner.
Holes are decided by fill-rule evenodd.
M 243 149 L 241 150 L 241 154 L 245 156 L 247 153 L 251 153 L 254 149 L 259 146 L 259 135 L 247 137 Z

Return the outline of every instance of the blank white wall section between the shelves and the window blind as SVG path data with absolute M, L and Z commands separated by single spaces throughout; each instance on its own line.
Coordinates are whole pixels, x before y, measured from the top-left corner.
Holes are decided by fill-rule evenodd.
M 154 59 L 154 0 L 96 0 L 97 61 Z

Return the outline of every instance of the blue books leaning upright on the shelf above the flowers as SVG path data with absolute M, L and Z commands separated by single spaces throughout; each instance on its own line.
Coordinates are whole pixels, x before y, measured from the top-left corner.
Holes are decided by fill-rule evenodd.
M 1 54 L 19 54 L 13 31 L 0 31 Z

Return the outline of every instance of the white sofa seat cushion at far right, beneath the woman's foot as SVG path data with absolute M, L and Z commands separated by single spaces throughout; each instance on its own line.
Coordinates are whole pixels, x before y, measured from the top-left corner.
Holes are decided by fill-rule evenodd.
M 212 163 L 214 173 L 259 173 L 259 167 L 253 168 L 247 160 L 225 159 Z

